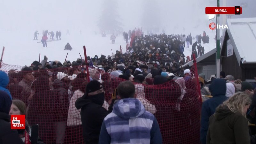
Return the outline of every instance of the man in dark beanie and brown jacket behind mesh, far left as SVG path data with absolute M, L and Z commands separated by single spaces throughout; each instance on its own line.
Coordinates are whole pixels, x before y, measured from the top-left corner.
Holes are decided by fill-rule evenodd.
M 23 79 L 20 81 L 19 85 L 22 86 L 22 92 L 21 94 L 24 97 L 23 102 L 25 102 L 26 104 L 28 104 L 28 97 L 30 96 L 30 94 L 33 95 L 33 93 L 31 93 L 31 84 L 34 81 L 34 76 L 32 74 L 32 69 L 25 67 L 21 70 L 22 72 L 22 77 Z

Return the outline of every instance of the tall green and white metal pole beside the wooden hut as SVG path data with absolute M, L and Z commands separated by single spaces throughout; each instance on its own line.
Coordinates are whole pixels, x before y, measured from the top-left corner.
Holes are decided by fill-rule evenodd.
M 220 0 L 217 0 L 217 7 L 220 7 Z M 220 15 L 216 16 L 216 24 L 218 25 Z M 220 78 L 220 29 L 216 28 L 216 77 Z

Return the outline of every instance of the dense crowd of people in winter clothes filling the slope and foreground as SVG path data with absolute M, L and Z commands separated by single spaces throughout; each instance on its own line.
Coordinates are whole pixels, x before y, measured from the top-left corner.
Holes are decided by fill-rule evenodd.
M 22 143 L 19 137 L 24 138 L 23 131 L 10 130 L 12 114 L 26 115 L 26 126 L 39 124 L 37 143 L 76 143 L 81 133 L 86 144 L 162 143 L 166 138 L 163 132 L 177 125 L 160 126 L 159 112 L 165 110 L 165 118 L 173 119 L 166 111 L 171 104 L 187 117 L 177 118 L 180 123 L 199 124 L 199 114 L 194 120 L 195 113 L 187 112 L 196 108 L 198 113 L 201 100 L 195 72 L 182 67 L 192 59 L 188 56 L 185 60 L 185 41 L 192 45 L 195 54 L 203 52 L 196 52 L 196 46 L 201 46 L 200 35 L 194 43 L 190 36 L 191 33 L 189 41 L 182 34 L 135 36 L 125 53 L 116 51 L 112 56 L 87 57 L 87 62 L 77 59 L 64 63 L 48 61 L 44 56 L 41 62 L 34 61 L 19 72 L 0 71 L 0 128 L 7 133 L 5 136 L 0 132 L 2 143 Z M 203 41 L 207 42 L 206 33 Z M 86 65 L 90 66 L 89 73 Z M 249 134 L 247 118 L 255 124 L 256 84 L 236 80 L 225 72 L 220 75 L 220 79 L 214 75 L 209 79 L 204 74 L 198 76 L 204 101 L 201 143 L 255 143 L 256 136 Z M 179 131 L 184 130 L 188 131 L 185 126 Z M 67 131 L 77 138 L 65 137 Z

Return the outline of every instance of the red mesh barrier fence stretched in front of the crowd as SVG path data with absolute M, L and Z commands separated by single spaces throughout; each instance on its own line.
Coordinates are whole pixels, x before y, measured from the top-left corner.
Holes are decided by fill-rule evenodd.
M 28 123 L 39 124 L 39 137 L 44 143 L 83 143 L 80 110 L 76 109 L 75 101 L 84 95 L 87 84 L 86 74 L 69 76 L 66 74 L 68 68 L 34 71 L 35 80 L 32 82 L 22 78 L 31 72 L 11 74 L 13 73 L 11 69 L 21 68 L 21 66 L 3 64 L 1 70 L 9 73 L 10 82 L 7 88 L 12 98 L 23 100 L 27 104 Z M 108 101 L 115 97 L 115 89 L 124 79 L 97 69 L 90 70 L 92 78 L 97 72 L 101 74 L 100 82 L 105 90 L 106 102 L 103 107 L 108 109 Z M 195 76 L 198 75 L 192 67 L 190 77 L 186 76 L 160 85 L 134 83 L 136 98 L 142 102 L 147 111 L 156 116 L 163 143 L 200 143 L 201 100 L 198 78 Z

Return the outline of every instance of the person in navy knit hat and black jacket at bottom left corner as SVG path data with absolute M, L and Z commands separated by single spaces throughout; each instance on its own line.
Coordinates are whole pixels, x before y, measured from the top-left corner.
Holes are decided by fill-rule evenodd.
M 0 143 L 1 144 L 24 144 L 17 130 L 11 130 L 10 108 L 12 100 L 8 93 L 0 91 Z

